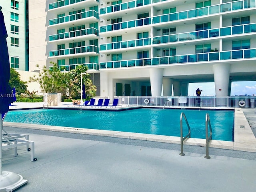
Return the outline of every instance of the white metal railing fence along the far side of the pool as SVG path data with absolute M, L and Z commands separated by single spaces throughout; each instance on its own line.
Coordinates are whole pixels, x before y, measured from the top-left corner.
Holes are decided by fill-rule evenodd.
M 255 108 L 256 96 L 114 96 L 120 105 L 172 108 Z

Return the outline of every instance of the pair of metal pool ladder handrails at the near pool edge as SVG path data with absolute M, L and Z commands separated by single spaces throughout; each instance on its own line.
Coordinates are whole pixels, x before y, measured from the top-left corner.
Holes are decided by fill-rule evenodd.
M 186 125 L 188 127 L 188 134 L 186 136 L 183 137 L 183 118 L 186 122 Z M 210 128 L 210 135 L 209 135 L 209 131 L 208 131 L 208 126 Z M 206 156 L 204 156 L 204 158 L 206 159 L 210 159 L 210 156 L 209 156 L 209 142 L 210 140 L 212 139 L 212 126 L 211 126 L 211 122 L 210 122 L 210 116 L 208 113 L 206 113 L 205 115 L 205 135 L 206 135 Z M 186 138 L 188 137 L 191 137 L 190 135 L 190 126 L 188 124 L 188 120 L 185 116 L 185 114 L 182 112 L 180 114 L 180 155 L 181 156 L 184 156 L 184 152 L 183 152 L 183 142 Z

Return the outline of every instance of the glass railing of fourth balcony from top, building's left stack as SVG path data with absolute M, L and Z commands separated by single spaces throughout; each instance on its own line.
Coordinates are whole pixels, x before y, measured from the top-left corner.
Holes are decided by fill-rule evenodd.
M 49 51 L 49 57 L 78 54 L 78 53 L 88 53 L 88 52 L 98 53 L 99 48 L 96 47 L 95 45 L 90 45 L 90 46 L 82 46 L 82 47 L 54 50 L 54 51 Z

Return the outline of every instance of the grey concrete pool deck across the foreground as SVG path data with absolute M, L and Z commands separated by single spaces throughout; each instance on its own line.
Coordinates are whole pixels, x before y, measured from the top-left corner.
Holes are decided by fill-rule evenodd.
M 210 148 L 211 158 L 206 159 L 204 147 L 185 145 L 185 156 L 180 156 L 180 144 L 6 123 L 8 132 L 29 134 L 35 142 L 36 162 L 30 161 L 31 151 L 25 146 L 18 148 L 16 157 L 13 149 L 3 150 L 2 170 L 28 180 L 18 192 L 254 192 L 256 188 L 254 152 Z

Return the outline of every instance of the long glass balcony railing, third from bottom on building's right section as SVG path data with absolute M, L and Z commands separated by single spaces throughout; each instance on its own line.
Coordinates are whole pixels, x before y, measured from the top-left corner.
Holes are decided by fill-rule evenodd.
M 246 8 L 252 8 L 252 7 L 255 7 L 255 0 L 235 1 L 235 2 L 218 4 L 214 6 L 208 6 L 208 7 L 203 7 L 203 8 L 198 8 L 198 9 L 193 9 L 188 11 L 148 17 L 148 18 L 144 18 L 145 22 L 144 22 L 144 19 L 138 19 L 138 20 L 120 22 L 116 24 L 105 25 L 100 27 L 100 32 L 120 30 L 120 29 L 138 27 L 138 26 L 143 26 L 148 24 L 171 22 L 176 20 L 206 16 L 210 14 L 217 14 L 221 12 L 240 10 L 240 9 L 246 9 Z

